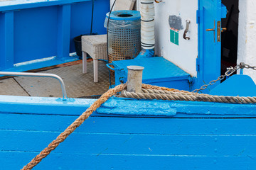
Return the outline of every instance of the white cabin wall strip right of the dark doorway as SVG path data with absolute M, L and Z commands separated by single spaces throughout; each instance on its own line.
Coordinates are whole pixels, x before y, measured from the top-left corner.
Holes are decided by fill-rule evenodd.
M 238 28 L 238 64 L 245 62 L 256 66 L 256 1 L 239 1 L 239 28 Z M 245 69 L 245 74 L 256 82 L 256 71 Z

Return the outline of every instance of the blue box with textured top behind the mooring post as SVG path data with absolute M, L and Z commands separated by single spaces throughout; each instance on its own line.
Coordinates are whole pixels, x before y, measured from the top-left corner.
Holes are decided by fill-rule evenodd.
M 114 68 L 117 68 L 115 71 L 116 85 L 120 84 L 120 81 L 127 81 L 127 66 L 137 65 L 145 68 L 142 80 L 144 84 L 190 90 L 190 84 L 188 82 L 188 79 L 191 78 L 190 74 L 164 59 L 164 57 L 114 61 L 113 65 Z

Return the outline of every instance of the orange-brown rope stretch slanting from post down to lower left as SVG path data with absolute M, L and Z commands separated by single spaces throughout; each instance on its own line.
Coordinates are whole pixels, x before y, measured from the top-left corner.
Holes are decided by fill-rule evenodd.
M 61 142 L 63 142 L 72 132 L 75 131 L 76 128 L 78 128 L 89 116 L 96 111 L 97 108 L 99 108 L 102 103 L 105 103 L 108 98 L 111 96 L 117 94 L 118 92 L 122 91 L 127 85 L 121 84 L 119 86 L 116 86 L 114 89 L 110 89 L 105 94 L 103 94 L 95 103 L 90 106 L 90 108 L 87 108 L 87 110 L 80 115 L 80 117 L 75 120 L 67 129 L 65 129 L 64 132 L 60 133 L 58 137 L 51 142 L 48 147 L 43 149 L 40 154 L 38 154 L 36 157 L 34 157 L 31 162 L 29 162 L 26 166 L 23 167 L 22 170 L 28 170 L 33 169 L 34 166 L 39 164 L 41 160 L 50 154 L 51 151 L 53 151 L 58 145 L 60 145 Z

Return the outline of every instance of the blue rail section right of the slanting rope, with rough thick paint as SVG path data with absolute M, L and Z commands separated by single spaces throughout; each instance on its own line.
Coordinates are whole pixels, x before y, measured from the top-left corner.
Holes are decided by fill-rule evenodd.
M 241 118 L 256 117 L 256 105 L 110 98 L 97 109 L 97 113 L 172 118 Z

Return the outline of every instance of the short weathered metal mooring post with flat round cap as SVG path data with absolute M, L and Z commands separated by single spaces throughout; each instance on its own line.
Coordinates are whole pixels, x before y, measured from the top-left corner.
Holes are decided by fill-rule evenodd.
M 142 92 L 142 71 L 144 67 L 128 66 L 127 91 Z

